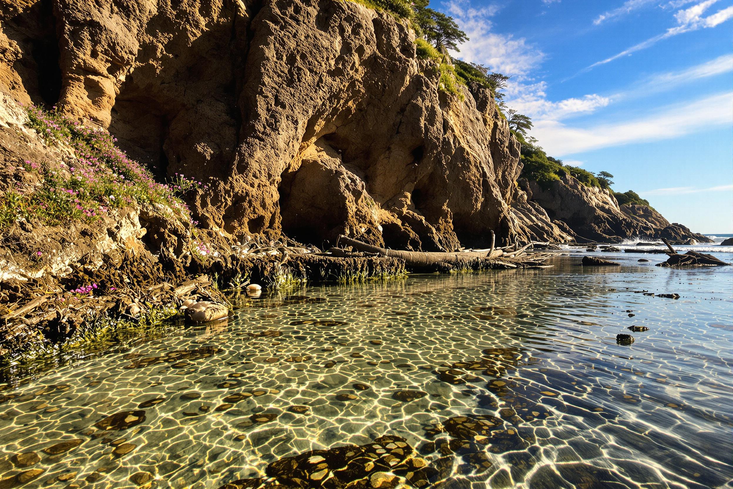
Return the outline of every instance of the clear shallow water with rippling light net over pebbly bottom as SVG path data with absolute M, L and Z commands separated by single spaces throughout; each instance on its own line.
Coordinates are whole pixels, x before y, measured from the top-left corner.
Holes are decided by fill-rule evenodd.
M 45 372 L 0 391 L 0 487 L 216 488 L 372 444 L 444 488 L 733 488 L 733 270 L 583 254 L 263 297 Z

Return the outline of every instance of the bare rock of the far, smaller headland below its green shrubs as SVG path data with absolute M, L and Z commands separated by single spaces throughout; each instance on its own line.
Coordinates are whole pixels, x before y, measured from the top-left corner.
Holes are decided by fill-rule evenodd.
M 693 239 L 701 243 L 712 240 L 693 233 L 682 224 L 670 224 L 652 207 L 644 205 L 620 205 L 610 191 L 583 185 L 570 174 L 542 188 L 530 182 L 527 194 L 531 202 L 540 205 L 548 216 L 561 226 L 567 224 L 576 239 L 619 242 L 627 238 L 686 243 Z

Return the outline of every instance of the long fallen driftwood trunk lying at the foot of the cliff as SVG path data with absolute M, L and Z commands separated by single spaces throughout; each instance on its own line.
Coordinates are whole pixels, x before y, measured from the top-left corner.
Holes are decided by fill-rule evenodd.
M 439 251 L 399 251 L 396 249 L 380 248 L 379 246 L 372 246 L 364 243 L 363 241 L 355 240 L 344 235 L 339 236 L 339 240 L 336 242 L 343 243 L 348 246 L 353 246 L 358 251 L 366 251 L 369 253 L 379 253 L 385 257 L 401 258 L 405 260 L 407 268 L 412 270 L 434 270 L 443 266 L 450 265 L 453 267 L 468 266 L 476 259 L 485 258 L 498 258 L 501 257 L 504 252 L 501 250 L 494 250 L 490 252 L 485 251 L 460 251 L 457 253 L 445 253 Z

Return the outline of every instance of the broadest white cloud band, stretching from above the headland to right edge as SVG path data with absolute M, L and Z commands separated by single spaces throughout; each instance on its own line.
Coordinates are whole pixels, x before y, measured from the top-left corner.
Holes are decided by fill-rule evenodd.
M 668 106 L 636 120 L 574 128 L 558 120 L 537 120 L 532 135 L 550 155 L 562 156 L 639 141 L 670 139 L 715 125 L 733 125 L 733 92 Z

